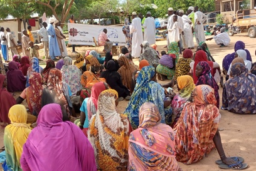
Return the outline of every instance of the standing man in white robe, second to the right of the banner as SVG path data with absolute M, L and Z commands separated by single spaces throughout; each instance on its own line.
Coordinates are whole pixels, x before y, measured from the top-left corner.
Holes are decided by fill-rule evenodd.
M 149 45 L 156 44 L 156 25 L 154 19 L 151 18 L 151 13 L 147 12 L 145 22 L 143 24 L 144 41 L 148 41 Z

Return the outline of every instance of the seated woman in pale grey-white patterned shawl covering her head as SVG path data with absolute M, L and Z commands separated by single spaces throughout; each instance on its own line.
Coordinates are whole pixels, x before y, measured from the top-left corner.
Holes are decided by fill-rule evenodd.
M 61 68 L 62 80 L 65 81 L 72 92 L 72 96 L 77 94 L 77 91 L 81 90 L 82 86 L 80 83 L 81 71 L 77 66 L 72 65 L 72 58 L 66 56 L 64 59 L 64 65 Z

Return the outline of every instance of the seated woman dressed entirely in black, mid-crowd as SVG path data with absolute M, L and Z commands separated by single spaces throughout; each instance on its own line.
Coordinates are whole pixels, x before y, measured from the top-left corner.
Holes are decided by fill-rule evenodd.
M 122 84 L 121 76 L 120 74 L 115 71 L 115 62 L 110 60 L 107 62 L 107 70 L 104 71 L 100 78 L 105 78 L 107 81 L 107 84 L 117 91 L 119 96 L 119 101 L 124 100 L 124 98 L 130 99 L 130 91 L 127 89 L 126 86 Z

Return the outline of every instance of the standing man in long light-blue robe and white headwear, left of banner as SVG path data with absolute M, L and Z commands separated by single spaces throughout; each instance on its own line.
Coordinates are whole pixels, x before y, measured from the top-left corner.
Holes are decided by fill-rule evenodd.
M 48 41 L 49 41 L 49 56 L 51 60 L 57 60 L 55 56 L 61 56 L 60 54 L 60 48 L 58 46 L 58 41 L 56 39 L 55 29 L 53 27 L 55 19 L 50 18 L 49 19 L 49 25 L 47 27 L 47 33 L 48 33 Z

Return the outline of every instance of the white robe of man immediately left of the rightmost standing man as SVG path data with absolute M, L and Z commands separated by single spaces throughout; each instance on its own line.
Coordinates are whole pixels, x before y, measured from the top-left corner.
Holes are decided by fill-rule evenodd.
M 183 15 L 182 19 L 184 23 L 183 49 L 192 48 L 195 46 L 193 41 L 192 27 L 191 24 L 189 24 L 190 22 L 192 23 L 192 21 L 186 15 Z

